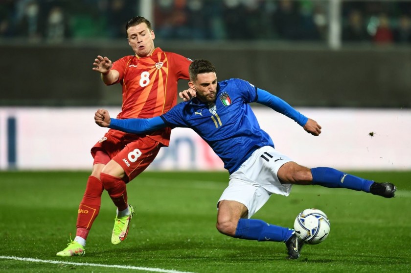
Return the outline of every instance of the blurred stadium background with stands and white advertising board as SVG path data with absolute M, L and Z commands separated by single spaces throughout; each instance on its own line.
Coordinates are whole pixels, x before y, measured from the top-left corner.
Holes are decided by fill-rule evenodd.
M 317 120 L 313 138 L 253 105 L 298 162 L 411 170 L 410 0 L 1 0 L 0 170 L 91 168 L 105 132 L 94 111 L 121 105 L 121 87 L 104 86 L 92 62 L 133 54 L 124 25 L 136 15 L 157 47 L 209 59 L 219 79 L 249 80 Z M 175 129 L 150 168 L 222 164 Z

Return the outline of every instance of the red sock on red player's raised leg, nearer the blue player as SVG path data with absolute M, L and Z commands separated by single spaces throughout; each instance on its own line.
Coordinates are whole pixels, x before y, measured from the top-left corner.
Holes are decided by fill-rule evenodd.
M 100 174 L 100 179 L 118 211 L 125 210 L 128 206 L 126 183 L 119 177 L 104 173 Z

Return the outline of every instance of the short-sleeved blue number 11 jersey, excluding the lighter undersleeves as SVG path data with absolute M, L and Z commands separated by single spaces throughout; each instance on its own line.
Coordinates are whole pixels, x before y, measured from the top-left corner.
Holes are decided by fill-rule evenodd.
M 172 128 L 189 127 L 196 131 L 231 174 L 254 150 L 274 147 L 248 104 L 256 97 L 256 88 L 249 82 L 225 80 L 218 83 L 215 104 L 208 105 L 194 98 L 173 107 L 161 118 Z

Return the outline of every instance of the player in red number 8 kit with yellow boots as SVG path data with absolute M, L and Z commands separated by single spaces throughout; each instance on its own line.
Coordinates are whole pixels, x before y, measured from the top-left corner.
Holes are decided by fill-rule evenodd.
M 101 74 L 106 85 L 122 85 L 123 103 L 118 119 L 162 115 L 176 105 L 177 82 L 189 79 L 191 60 L 155 48 L 154 31 L 143 17 L 128 21 L 126 30 L 135 55 L 114 63 L 107 57 L 97 56 L 92 69 Z M 139 135 L 110 129 L 91 148 L 94 162 L 78 209 L 76 237 L 57 256 L 85 254 L 86 239 L 100 210 L 104 190 L 117 207 L 112 243 L 119 244 L 126 238 L 134 214 L 134 207 L 127 202 L 126 183 L 150 165 L 161 147 L 168 146 L 170 133 L 171 128 Z

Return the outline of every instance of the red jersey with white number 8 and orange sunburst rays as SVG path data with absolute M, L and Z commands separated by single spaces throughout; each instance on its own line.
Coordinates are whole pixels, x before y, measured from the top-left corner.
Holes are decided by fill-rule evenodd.
M 153 118 L 160 116 L 177 103 L 177 82 L 189 79 L 191 60 L 160 48 L 146 57 L 125 56 L 113 63 L 120 74 L 117 82 L 123 88 L 123 104 L 118 119 Z M 150 138 L 168 146 L 171 128 L 160 129 Z

